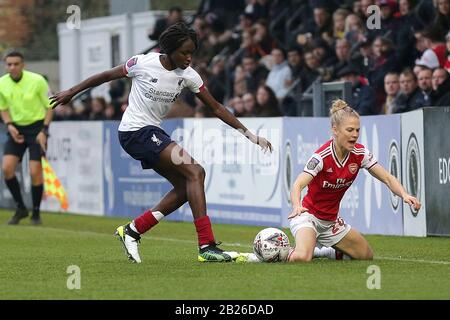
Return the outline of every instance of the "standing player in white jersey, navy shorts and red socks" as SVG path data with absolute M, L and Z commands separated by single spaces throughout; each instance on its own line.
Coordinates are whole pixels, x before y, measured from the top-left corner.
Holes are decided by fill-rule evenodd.
M 51 98 L 53 107 L 68 103 L 73 96 L 87 88 L 131 77 L 129 105 L 119 126 L 120 144 L 128 154 L 141 162 L 143 169 L 155 170 L 173 185 L 173 189 L 151 210 L 117 228 L 116 234 L 122 241 L 128 258 L 140 263 L 140 235 L 189 202 L 198 236 L 198 260 L 231 261 L 232 257 L 217 247 L 211 222 L 206 214 L 205 171 L 162 130 L 161 121 L 181 90 L 187 87 L 219 119 L 239 130 L 250 141 L 260 145 L 263 150 L 272 151 L 272 146 L 266 139 L 248 131 L 218 103 L 203 85 L 199 74 L 190 67 L 192 54 L 198 46 L 193 29 L 184 23 L 174 24 L 161 34 L 159 45 L 161 54 L 134 56 L 125 65 L 94 75 L 73 88 L 56 94 Z

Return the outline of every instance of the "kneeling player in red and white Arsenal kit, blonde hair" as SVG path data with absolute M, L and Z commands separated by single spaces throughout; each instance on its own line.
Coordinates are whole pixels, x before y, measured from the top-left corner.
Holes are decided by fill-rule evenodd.
M 339 205 L 345 191 L 355 181 L 360 168 L 385 183 L 404 202 L 420 209 L 420 202 L 409 195 L 400 182 L 387 172 L 374 155 L 357 143 L 359 114 L 343 100 L 333 102 L 330 111 L 333 138 L 320 147 L 297 177 L 292 190 L 290 229 L 296 246 L 289 262 L 306 262 L 313 257 L 338 258 L 336 253 L 352 259 L 371 260 L 373 252 L 366 239 L 339 217 Z M 308 186 L 301 200 L 301 191 Z M 321 254 L 316 247 L 324 248 Z M 334 248 L 334 249 L 333 249 Z

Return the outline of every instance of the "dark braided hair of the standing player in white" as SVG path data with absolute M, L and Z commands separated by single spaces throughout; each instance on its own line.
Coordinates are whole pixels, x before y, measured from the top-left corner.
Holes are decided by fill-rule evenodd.
M 177 22 L 164 30 L 159 37 L 159 46 L 163 53 L 170 55 L 189 39 L 194 42 L 195 48 L 197 49 L 198 39 L 195 30 L 187 26 L 184 22 Z

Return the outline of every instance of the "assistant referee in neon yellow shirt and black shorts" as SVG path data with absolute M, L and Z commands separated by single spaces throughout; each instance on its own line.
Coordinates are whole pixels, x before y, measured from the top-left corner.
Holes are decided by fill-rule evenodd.
M 7 54 L 5 64 L 8 73 L 0 78 L 0 112 L 7 126 L 8 139 L 2 170 L 6 186 L 17 205 L 8 224 L 18 224 L 29 215 L 15 173 L 28 148 L 33 200 L 31 223 L 39 225 L 44 191 L 41 156 L 47 148 L 48 126 L 53 114 L 48 99 L 48 84 L 41 75 L 24 70 L 24 57 L 20 52 Z

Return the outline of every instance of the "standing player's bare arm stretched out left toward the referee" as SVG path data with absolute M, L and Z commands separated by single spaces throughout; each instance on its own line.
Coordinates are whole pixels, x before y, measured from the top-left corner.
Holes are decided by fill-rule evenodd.
M 61 91 L 50 97 L 50 105 L 52 108 L 56 108 L 60 104 L 67 104 L 72 100 L 72 98 L 78 93 L 92 87 L 99 86 L 105 82 L 109 82 L 115 79 L 120 79 L 126 77 L 124 66 L 120 65 L 111 70 L 104 71 L 101 73 L 97 73 L 92 77 L 87 78 L 86 80 L 80 82 L 74 87 L 70 88 L 66 91 Z

